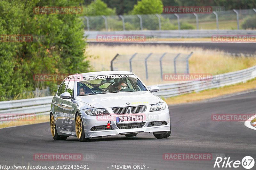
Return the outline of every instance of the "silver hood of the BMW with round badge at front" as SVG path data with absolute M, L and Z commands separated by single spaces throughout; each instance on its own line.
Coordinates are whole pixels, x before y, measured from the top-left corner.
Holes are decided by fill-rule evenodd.
M 87 103 L 94 108 L 138 106 L 159 103 L 159 98 L 151 94 L 149 91 L 117 92 L 78 96 L 76 97 L 76 100 Z

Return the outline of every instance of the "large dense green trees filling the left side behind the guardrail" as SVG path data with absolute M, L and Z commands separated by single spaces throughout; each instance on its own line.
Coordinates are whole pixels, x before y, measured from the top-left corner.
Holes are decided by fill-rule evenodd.
M 42 35 L 32 42 L 0 43 L 0 100 L 58 82 L 34 81 L 34 74 L 75 74 L 91 70 L 86 61 L 82 20 L 77 14 L 35 14 L 37 6 L 79 6 L 51 0 L 0 1 L 1 35 Z M 1 41 L 1 40 L 0 40 Z

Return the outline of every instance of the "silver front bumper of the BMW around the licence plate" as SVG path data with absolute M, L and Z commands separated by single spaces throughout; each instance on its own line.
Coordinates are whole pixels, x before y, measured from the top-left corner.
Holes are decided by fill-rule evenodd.
M 135 115 L 143 115 L 143 122 L 137 123 L 128 123 L 128 124 L 116 124 L 115 119 L 99 119 L 96 116 L 89 116 L 84 113 L 84 110 L 81 110 L 83 124 L 84 124 L 84 133 L 85 138 L 92 137 L 101 137 L 101 136 L 110 136 L 110 135 L 118 135 L 132 132 L 157 132 L 157 131 L 170 131 L 170 114 L 168 107 L 164 110 L 149 112 L 150 107 L 147 107 L 147 110 L 143 113 L 136 114 L 125 114 L 125 115 L 116 115 L 111 110 L 108 112 L 111 116 L 135 116 Z M 112 117 L 113 118 L 113 117 Z M 111 121 L 110 128 L 106 130 L 108 121 Z M 165 122 L 166 124 L 159 124 L 160 122 Z M 152 125 L 153 122 L 156 122 L 157 125 Z M 129 127 L 129 124 L 131 127 Z M 134 125 L 134 126 L 132 126 Z M 136 126 L 135 126 L 136 125 Z M 138 125 L 138 126 L 137 126 Z M 119 127 L 118 127 L 119 126 Z M 125 126 L 125 127 L 120 127 Z M 103 127 L 100 130 L 92 130 L 92 127 Z

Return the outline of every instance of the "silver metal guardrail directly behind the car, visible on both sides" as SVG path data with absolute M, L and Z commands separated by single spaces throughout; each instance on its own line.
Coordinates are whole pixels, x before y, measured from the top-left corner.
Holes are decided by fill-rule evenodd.
M 198 92 L 206 89 L 218 88 L 231 84 L 236 84 L 239 82 L 245 82 L 255 77 L 256 66 L 253 66 L 244 70 L 214 75 L 212 76 L 211 80 L 183 81 L 178 83 L 175 82 L 168 84 L 159 84 L 157 86 L 160 88 L 160 91 L 156 92 L 155 94 L 157 96 L 165 98 L 179 96 L 191 92 Z M 53 96 L 47 96 L 32 99 L 0 102 L 0 116 L 1 114 L 26 115 L 32 113 L 40 114 L 43 112 L 45 112 L 45 114 L 48 114 L 51 109 L 52 98 Z

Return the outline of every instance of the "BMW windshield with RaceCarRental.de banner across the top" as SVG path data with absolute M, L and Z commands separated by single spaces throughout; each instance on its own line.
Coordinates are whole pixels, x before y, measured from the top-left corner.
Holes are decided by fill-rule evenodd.
M 114 74 L 81 78 L 77 82 L 77 96 L 127 91 L 147 91 L 133 74 Z

